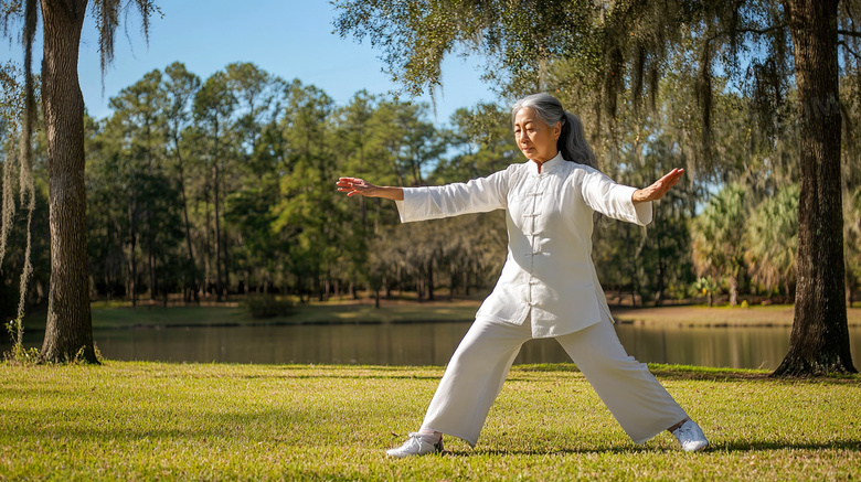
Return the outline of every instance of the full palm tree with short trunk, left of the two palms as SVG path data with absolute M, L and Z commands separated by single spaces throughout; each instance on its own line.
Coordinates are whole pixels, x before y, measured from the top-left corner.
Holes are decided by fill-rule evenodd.
M 709 201 L 693 219 L 693 266 L 698 276 L 726 277 L 730 306 L 738 303 L 738 275 L 744 266 L 746 191 L 730 184 Z

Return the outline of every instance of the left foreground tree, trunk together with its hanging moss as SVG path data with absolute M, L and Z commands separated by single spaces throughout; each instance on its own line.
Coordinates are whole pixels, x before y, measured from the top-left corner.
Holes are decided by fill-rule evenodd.
M 94 0 L 91 13 L 99 30 L 102 74 L 114 58 L 114 33 L 124 4 L 137 7 L 145 36 L 157 10 L 152 0 Z M 89 311 L 89 268 L 86 242 L 84 186 L 84 97 L 77 77 L 81 31 L 87 0 L 2 0 L 0 20 L 23 21 L 24 121 L 22 157 L 32 165 L 35 86 L 32 72 L 39 14 L 42 15 L 42 113 L 47 139 L 49 210 L 51 225 L 51 285 L 47 324 L 41 357 L 51 362 L 72 358 L 97 363 Z M 4 30 L 4 33 L 8 31 Z M 62 226 L 62 228 L 61 228 Z

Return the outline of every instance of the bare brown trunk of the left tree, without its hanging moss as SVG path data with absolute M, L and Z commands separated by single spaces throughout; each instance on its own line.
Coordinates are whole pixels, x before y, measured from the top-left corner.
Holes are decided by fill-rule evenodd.
M 42 110 L 47 135 L 51 288 L 41 356 L 98 363 L 87 290 L 84 97 L 77 78 L 86 0 L 42 0 Z

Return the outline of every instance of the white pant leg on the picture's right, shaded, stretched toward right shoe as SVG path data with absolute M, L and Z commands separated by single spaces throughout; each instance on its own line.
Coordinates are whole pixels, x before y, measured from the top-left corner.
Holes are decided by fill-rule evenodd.
M 556 340 L 635 443 L 688 417 L 646 364 L 628 356 L 609 321 Z

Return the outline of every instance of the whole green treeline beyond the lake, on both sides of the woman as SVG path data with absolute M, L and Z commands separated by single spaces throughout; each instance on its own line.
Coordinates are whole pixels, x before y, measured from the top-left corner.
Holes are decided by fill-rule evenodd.
M 647 125 L 623 119 L 612 146 L 593 138 L 605 172 L 641 186 L 691 164 L 697 133 L 679 120 L 690 98 L 678 95 Z M 733 108 L 740 101 L 718 97 L 711 169 L 689 170 L 656 204 L 650 226 L 598 221 L 593 256 L 608 294 L 638 304 L 703 292 L 793 299 L 797 152 L 789 141 L 753 142 L 750 119 Z M 359 290 L 434 299 L 442 288 L 468 294 L 492 286 L 504 261 L 501 213 L 401 225 L 394 203 L 334 189 L 339 175 L 427 185 L 522 162 L 504 109 L 460 109 L 439 127 L 424 105 L 366 92 L 339 105 L 312 85 L 247 63 L 205 81 L 174 63 L 123 89 L 110 107 L 109 117 L 88 119 L 86 132 L 92 299 L 326 300 Z M 14 139 L 0 131 L 8 164 Z M 47 165 L 44 142 L 36 143 L 31 306 L 44 302 L 50 277 Z M 861 282 L 855 152 L 844 149 L 843 162 L 848 301 Z M 18 299 L 26 236 L 23 210 L 11 218 L 0 270 L 4 318 Z

